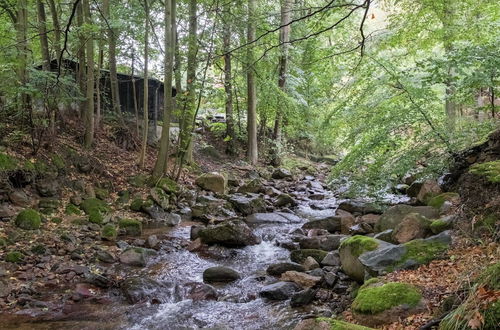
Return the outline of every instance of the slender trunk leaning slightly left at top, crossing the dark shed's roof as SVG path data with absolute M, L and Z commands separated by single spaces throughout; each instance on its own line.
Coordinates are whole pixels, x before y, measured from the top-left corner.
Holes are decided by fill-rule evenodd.
M 118 77 L 116 74 L 116 39 L 118 37 L 118 31 L 112 27 L 111 14 L 109 10 L 109 0 L 103 0 L 103 12 L 104 17 L 108 22 L 108 61 L 112 106 L 113 111 L 121 116 L 120 91 L 118 89 Z

